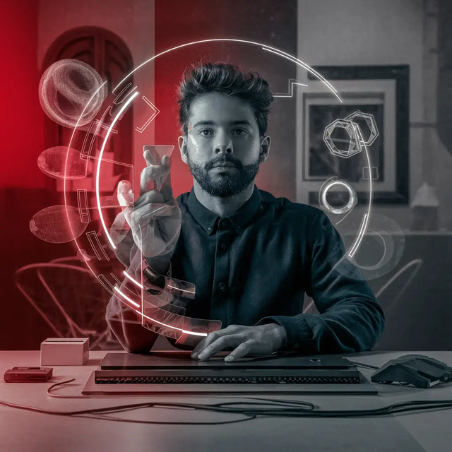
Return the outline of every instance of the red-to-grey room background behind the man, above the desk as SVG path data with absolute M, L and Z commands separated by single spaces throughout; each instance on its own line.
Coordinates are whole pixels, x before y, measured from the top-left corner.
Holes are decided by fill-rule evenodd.
M 350 215 L 329 212 L 352 243 L 371 201 L 369 231 L 357 254 L 386 312 L 378 350 L 451 350 L 452 277 L 452 5 L 446 0 L 3 0 L 2 165 L 0 234 L 3 312 L 0 347 L 37 350 L 56 335 L 90 335 L 97 347 L 117 347 L 103 321 L 109 292 L 87 270 L 72 242 L 45 242 L 30 230 L 33 216 L 64 203 L 61 179 L 38 167 L 44 150 L 68 145 L 71 129 L 42 111 L 42 73 L 60 59 L 93 66 L 109 90 L 143 61 L 181 44 L 227 38 L 258 42 L 296 56 L 321 73 L 343 97 L 289 59 L 240 42 L 206 42 L 146 64 L 133 83 L 145 102 L 121 121 L 106 149 L 100 190 L 113 196 L 121 178 L 136 181 L 145 144 L 174 145 L 177 196 L 191 176 L 177 150 L 177 83 L 198 61 L 227 61 L 257 71 L 278 95 L 268 134 L 272 152 L 261 167 L 260 189 L 319 207 L 334 178 L 357 196 Z M 303 84 L 307 87 L 303 87 Z M 331 157 L 323 129 L 360 109 L 376 119 L 379 136 L 364 157 Z M 81 144 L 81 143 L 80 143 Z M 364 154 L 363 154 L 364 155 Z M 361 160 L 359 160 L 361 159 Z M 90 170 L 92 171 L 92 169 Z M 369 183 L 372 196 L 369 196 Z M 85 180 L 90 193 L 93 177 Z M 76 198 L 76 183 L 66 187 Z M 336 186 L 330 202 L 347 203 Z M 322 207 L 322 206 L 320 206 Z M 58 225 L 57 225 L 58 227 Z M 36 231 L 35 231 L 36 232 Z M 101 227 L 90 226 L 91 244 Z M 111 251 L 111 250 L 110 250 Z M 104 249 L 105 274 L 118 263 Z M 313 311 L 309 299 L 306 309 Z M 160 342 L 165 346 L 165 343 Z

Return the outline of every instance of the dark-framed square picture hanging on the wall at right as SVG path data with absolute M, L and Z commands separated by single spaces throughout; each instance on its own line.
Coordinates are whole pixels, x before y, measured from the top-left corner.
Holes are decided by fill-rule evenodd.
M 307 190 L 307 201 L 319 203 L 322 183 L 337 177 L 350 183 L 358 202 L 365 203 L 371 178 L 374 203 L 407 204 L 410 195 L 409 66 L 314 66 L 314 69 L 338 90 L 340 100 L 309 73 L 309 86 L 301 93 L 297 107 L 301 130 L 297 191 Z M 367 147 L 370 170 L 365 153 L 340 157 L 333 155 L 323 141 L 328 124 L 354 112 L 371 114 L 379 131 Z M 300 199 L 299 193 L 297 197 Z

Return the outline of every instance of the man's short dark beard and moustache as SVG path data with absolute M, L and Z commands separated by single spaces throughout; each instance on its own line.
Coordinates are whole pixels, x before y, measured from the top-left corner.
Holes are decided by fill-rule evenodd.
M 209 171 L 215 165 L 229 162 L 235 165 L 237 171 L 230 172 L 218 172 L 217 174 L 210 174 Z M 249 165 L 243 165 L 232 155 L 224 155 L 218 157 L 210 162 L 200 165 L 193 162 L 187 155 L 187 163 L 189 165 L 191 174 L 201 189 L 206 191 L 211 196 L 217 196 L 218 198 L 229 198 L 230 196 L 236 196 L 244 191 L 251 182 L 254 182 L 256 174 L 259 169 L 259 162 L 251 163 Z

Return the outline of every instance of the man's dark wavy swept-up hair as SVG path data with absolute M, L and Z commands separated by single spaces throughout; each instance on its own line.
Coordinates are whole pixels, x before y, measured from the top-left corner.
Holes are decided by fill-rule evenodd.
M 184 73 L 179 85 L 179 123 L 188 131 L 191 103 L 196 96 L 206 93 L 220 93 L 235 96 L 248 102 L 254 109 L 259 133 L 267 130 L 268 112 L 273 95 L 268 83 L 258 73 L 244 73 L 237 66 L 226 63 L 206 63 L 193 66 Z

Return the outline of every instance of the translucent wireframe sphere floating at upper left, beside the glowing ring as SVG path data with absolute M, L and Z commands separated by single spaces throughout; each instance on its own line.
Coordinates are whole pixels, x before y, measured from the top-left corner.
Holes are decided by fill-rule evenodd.
M 60 126 L 84 126 L 92 121 L 107 97 L 100 75 L 77 59 L 61 59 L 42 74 L 40 103 Z

